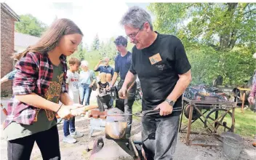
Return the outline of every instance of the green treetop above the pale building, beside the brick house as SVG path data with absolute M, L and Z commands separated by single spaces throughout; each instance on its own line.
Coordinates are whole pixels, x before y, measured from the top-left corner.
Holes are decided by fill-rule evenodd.
M 46 31 L 47 25 L 33 17 L 33 15 L 20 15 L 20 22 L 15 23 L 15 31 L 40 37 Z

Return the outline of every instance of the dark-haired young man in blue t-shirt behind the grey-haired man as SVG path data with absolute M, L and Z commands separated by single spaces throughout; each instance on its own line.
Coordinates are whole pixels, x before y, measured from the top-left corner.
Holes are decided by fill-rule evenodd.
M 132 53 L 127 51 L 127 39 L 125 39 L 124 36 L 117 37 L 114 43 L 116 44 L 116 49 L 119 52 L 119 55 L 115 58 L 115 72 L 113 74 L 111 87 L 116 83 L 116 79 L 120 74 L 121 81 L 119 81 L 117 86 L 117 89 L 120 90 L 132 63 Z M 127 98 L 116 100 L 116 108 L 119 108 L 124 113 L 132 114 L 132 105 L 135 102 L 136 87 L 136 83 L 130 87 Z M 128 116 L 127 138 L 130 137 L 131 127 L 132 115 Z

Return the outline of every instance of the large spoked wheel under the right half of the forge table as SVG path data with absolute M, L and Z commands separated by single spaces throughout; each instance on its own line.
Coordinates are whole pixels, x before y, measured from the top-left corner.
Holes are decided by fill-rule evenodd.
M 221 116 L 223 113 L 225 113 L 227 110 L 223 108 L 215 108 L 212 111 L 209 111 L 207 116 L 205 117 L 206 120 L 204 120 L 204 127 L 207 128 L 209 124 L 212 124 L 215 119 L 217 119 L 219 116 Z M 228 113 L 225 113 L 225 115 L 218 119 L 215 124 L 215 130 L 217 132 L 231 132 L 232 131 L 232 113 L 228 111 Z M 215 132 L 212 127 L 208 128 L 209 132 Z

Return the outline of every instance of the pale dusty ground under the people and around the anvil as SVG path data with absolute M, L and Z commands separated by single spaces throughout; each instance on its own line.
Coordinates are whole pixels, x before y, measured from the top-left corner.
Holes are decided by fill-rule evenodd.
M 6 103 L 6 101 L 2 101 Z M 1 123 L 4 119 L 1 115 Z M 58 124 L 59 136 L 60 136 L 60 153 L 62 159 L 67 160 L 80 160 L 89 159 L 90 152 L 87 153 L 86 147 L 89 143 L 92 143 L 97 137 L 105 137 L 104 132 L 94 132 L 93 137 L 89 137 L 89 119 L 85 117 L 76 118 L 76 129 L 79 132 L 84 133 L 84 137 L 77 138 L 78 142 L 74 144 L 63 143 L 63 124 Z M 140 121 L 134 121 L 132 124 L 132 135 L 140 139 Z M 1 129 L 1 159 L 7 159 L 7 142 L 2 136 Z M 177 147 L 175 151 L 175 160 L 224 160 L 222 147 L 207 147 L 200 146 L 188 146 L 183 141 L 184 135 L 178 135 Z M 97 159 L 104 160 L 119 160 L 119 159 L 132 159 L 126 152 L 124 152 L 119 145 L 116 145 L 113 140 L 105 140 L 102 151 L 97 155 Z M 100 158 L 101 157 L 101 158 Z M 31 159 L 41 159 L 41 153 L 38 146 L 35 143 Z M 244 140 L 244 149 L 241 152 L 239 160 L 251 160 L 256 159 L 256 148 L 252 147 L 252 140 Z

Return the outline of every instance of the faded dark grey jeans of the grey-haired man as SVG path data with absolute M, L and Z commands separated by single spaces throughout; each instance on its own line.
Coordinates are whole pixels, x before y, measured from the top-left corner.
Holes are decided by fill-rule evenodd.
M 143 149 L 148 160 L 172 159 L 179 120 L 180 116 L 143 116 Z

